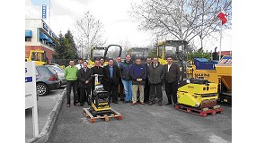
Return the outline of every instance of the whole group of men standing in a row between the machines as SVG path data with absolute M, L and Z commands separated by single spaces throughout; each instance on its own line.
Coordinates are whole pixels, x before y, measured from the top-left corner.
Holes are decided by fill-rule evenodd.
M 70 61 L 70 65 L 66 67 L 66 106 L 71 105 L 71 87 L 74 92 L 74 105 L 82 106 L 84 102 L 88 102 L 88 95 L 94 89 L 93 74 L 103 75 L 103 87 L 110 93 L 109 101 L 114 104 L 118 104 L 120 97 L 120 101 L 131 105 L 137 105 L 137 102 L 141 105 L 145 103 L 154 105 L 155 98 L 158 100 L 158 105 L 163 105 L 163 83 L 168 98 L 166 105 L 172 105 L 172 100 L 174 105 L 177 103 L 181 71 L 177 64 L 172 63 L 171 56 L 167 57 L 165 65 L 160 64 L 157 57 L 148 57 L 145 64 L 142 64 L 141 59 L 137 57 L 133 63 L 131 55 L 126 55 L 124 62 L 117 57 L 115 61 L 109 59 L 108 65 L 104 65 L 103 58 L 95 60 L 94 63 L 95 65 L 90 69 L 87 67 L 88 63 L 80 58 L 78 64 L 75 65 L 74 61 Z

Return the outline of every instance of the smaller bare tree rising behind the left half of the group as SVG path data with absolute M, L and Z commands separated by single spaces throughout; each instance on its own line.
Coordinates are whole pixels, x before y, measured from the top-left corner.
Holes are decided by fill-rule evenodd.
M 81 47 L 82 56 L 88 55 L 92 46 L 102 46 L 106 43 L 106 40 L 102 40 L 102 28 L 102 22 L 96 20 L 90 12 L 84 13 L 84 17 L 76 21 L 76 41 Z

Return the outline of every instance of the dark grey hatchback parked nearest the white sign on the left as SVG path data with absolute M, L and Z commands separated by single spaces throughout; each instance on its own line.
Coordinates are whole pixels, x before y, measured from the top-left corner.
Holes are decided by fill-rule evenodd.
M 57 72 L 45 65 L 36 66 L 37 92 L 39 96 L 46 96 L 49 90 L 60 87 Z

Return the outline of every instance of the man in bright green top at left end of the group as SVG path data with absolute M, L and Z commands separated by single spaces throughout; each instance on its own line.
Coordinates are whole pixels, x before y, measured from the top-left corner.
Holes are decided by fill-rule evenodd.
M 71 88 L 73 88 L 73 93 L 74 93 L 74 105 L 77 105 L 78 103 L 76 102 L 78 100 L 77 96 L 77 72 L 78 69 L 75 67 L 75 62 L 70 61 L 69 66 L 66 67 L 65 69 L 65 79 L 66 79 L 66 106 L 70 106 L 70 93 L 71 93 Z

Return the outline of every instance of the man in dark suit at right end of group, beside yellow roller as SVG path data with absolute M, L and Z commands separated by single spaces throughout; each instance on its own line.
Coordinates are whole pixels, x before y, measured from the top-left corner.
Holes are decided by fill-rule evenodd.
M 164 82 L 165 82 L 165 92 L 168 98 L 168 103 L 166 105 L 172 105 L 172 100 L 174 106 L 177 104 L 177 90 L 178 81 L 181 77 L 181 70 L 179 65 L 172 63 L 172 57 L 167 57 L 167 64 L 163 66 L 164 68 Z

